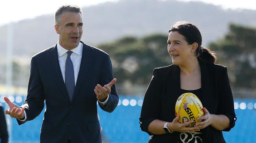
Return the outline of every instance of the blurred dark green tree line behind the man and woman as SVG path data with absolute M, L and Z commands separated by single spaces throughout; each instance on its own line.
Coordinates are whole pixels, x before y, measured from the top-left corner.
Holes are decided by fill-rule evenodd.
M 142 38 L 126 36 L 114 42 L 97 45 L 110 54 L 114 77 L 118 83 L 148 85 L 155 67 L 172 64 L 167 52 L 166 34 L 151 34 Z M 209 44 L 217 52 L 218 64 L 228 67 L 232 87 L 256 87 L 256 29 L 230 24 L 223 38 Z M 4 70 L 5 71 L 5 70 Z M 5 74 L 0 79 L 4 80 Z M 28 65 L 13 64 L 13 85 L 27 86 Z

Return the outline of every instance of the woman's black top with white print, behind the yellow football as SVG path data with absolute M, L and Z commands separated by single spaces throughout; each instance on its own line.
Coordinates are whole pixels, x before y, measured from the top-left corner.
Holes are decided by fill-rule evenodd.
M 196 90 L 185 90 L 185 89 L 180 89 L 181 94 L 184 93 L 193 93 L 195 94 L 198 99 L 201 99 L 202 96 L 202 89 L 196 89 Z M 197 143 L 203 143 L 202 139 L 202 132 L 181 132 L 179 134 L 179 143 L 195 143 L 195 140 Z

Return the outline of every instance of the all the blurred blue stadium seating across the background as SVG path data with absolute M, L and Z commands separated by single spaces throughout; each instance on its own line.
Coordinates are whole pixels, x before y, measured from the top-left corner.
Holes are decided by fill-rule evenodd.
M 1 95 L 0 95 L 1 97 Z M 18 95 L 13 96 L 14 99 Z M 24 102 L 22 101 L 17 105 Z M 1 98 L 0 98 L 1 99 Z M 126 100 L 125 100 L 126 99 Z M 133 100 L 134 99 L 134 100 Z M 133 100 L 134 102 L 132 102 Z M 139 116 L 141 110 L 142 96 L 122 96 L 120 95 L 120 103 L 116 110 L 112 113 L 105 112 L 98 107 L 98 114 L 101 123 L 102 135 L 108 143 L 147 143 L 149 135 L 140 130 Z M 230 132 L 223 132 L 227 143 L 253 143 L 256 136 L 256 99 L 235 99 L 234 103 L 240 105 L 245 103 L 245 109 L 235 107 L 237 115 L 236 125 Z M 1 100 L 0 100 L 1 103 Z M 250 105 L 254 105 L 249 109 Z M 3 103 L 6 105 L 5 103 Z M 7 105 L 5 106 L 7 108 Z M 15 119 L 7 118 L 9 122 L 10 140 L 12 143 L 39 143 L 39 135 L 41 122 L 43 120 L 43 112 L 34 119 L 19 126 Z

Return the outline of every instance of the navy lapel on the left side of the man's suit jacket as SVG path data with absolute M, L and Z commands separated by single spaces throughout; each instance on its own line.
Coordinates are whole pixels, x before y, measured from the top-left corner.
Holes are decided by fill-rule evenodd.
M 67 89 L 64 84 L 64 80 L 62 77 L 62 73 L 60 70 L 60 64 L 58 60 L 58 51 L 57 51 L 57 44 L 50 48 L 49 50 L 49 55 L 47 58 L 47 62 L 50 66 L 50 69 L 52 69 L 52 79 L 56 81 L 56 84 L 60 88 L 60 91 L 62 91 L 62 94 L 64 95 L 64 98 L 70 103 L 69 96 L 67 94 Z

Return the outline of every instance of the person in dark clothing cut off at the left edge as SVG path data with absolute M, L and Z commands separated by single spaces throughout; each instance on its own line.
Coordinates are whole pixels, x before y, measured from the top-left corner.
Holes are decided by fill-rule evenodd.
M 8 142 L 8 132 L 6 125 L 6 117 L 4 116 L 4 110 L 0 103 L 0 143 Z

